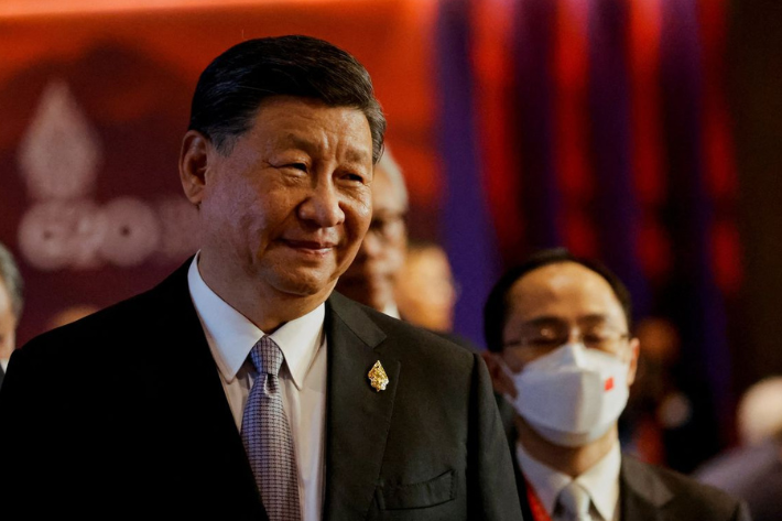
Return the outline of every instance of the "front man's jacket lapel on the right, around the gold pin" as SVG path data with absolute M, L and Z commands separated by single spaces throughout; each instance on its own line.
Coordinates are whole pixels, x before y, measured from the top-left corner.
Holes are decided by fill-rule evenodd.
M 366 519 L 378 485 L 400 362 L 383 350 L 385 334 L 346 297 L 327 301 L 328 394 L 326 412 L 325 520 Z M 367 373 L 380 360 L 389 377 L 384 391 Z

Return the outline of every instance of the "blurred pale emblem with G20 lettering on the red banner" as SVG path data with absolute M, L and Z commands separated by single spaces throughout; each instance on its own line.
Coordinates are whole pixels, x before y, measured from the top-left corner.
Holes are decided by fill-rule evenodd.
M 181 261 L 198 243 L 197 213 L 184 197 L 155 203 L 95 192 L 101 144 L 63 80 L 53 80 L 19 151 L 20 170 L 35 200 L 19 226 L 22 254 L 42 271 L 95 269 L 107 262 L 139 265 L 158 254 Z M 104 174 L 107 175 L 107 174 Z

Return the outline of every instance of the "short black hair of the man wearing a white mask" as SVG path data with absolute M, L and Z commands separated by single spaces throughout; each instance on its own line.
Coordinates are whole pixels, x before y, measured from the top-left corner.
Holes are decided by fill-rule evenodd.
M 502 330 L 506 327 L 510 308 L 508 293 L 513 284 L 537 268 L 563 262 L 575 262 L 602 276 L 606 282 L 608 282 L 608 285 L 611 286 L 613 294 L 622 306 L 628 327 L 632 327 L 632 301 L 630 299 L 630 292 L 611 270 L 597 260 L 576 257 L 565 248 L 552 248 L 537 251 L 523 263 L 508 270 L 491 289 L 486 305 L 484 306 L 484 336 L 489 350 L 502 350 Z

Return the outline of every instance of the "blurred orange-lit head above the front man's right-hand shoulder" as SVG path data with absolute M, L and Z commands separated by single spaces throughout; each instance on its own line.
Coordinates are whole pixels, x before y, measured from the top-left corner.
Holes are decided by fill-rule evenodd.
M 401 315 L 411 323 L 436 332 L 453 329 L 457 289 L 443 247 L 409 241 L 395 296 Z

